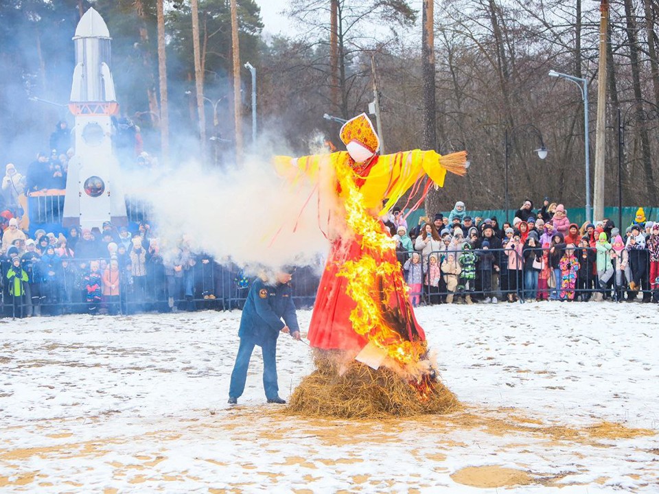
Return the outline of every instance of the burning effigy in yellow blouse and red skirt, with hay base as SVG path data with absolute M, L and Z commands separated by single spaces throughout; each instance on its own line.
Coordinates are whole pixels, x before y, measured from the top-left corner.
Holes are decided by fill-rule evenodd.
M 347 121 L 340 137 L 347 151 L 276 158 L 279 174 L 291 183 L 312 180 L 314 190 L 329 189 L 336 205 L 308 332 L 316 370 L 294 391 L 289 410 L 339 418 L 454 410 L 459 402 L 439 379 L 395 240 L 380 215 L 409 189 L 408 204 L 417 200 L 415 209 L 433 184 L 443 186 L 447 172 L 464 175 L 466 153 L 380 156 L 378 135 L 365 114 Z M 323 187 L 328 182 L 331 187 Z

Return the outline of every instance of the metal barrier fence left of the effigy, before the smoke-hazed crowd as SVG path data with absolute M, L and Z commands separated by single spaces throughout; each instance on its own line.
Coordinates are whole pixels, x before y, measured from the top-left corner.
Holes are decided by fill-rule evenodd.
M 42 257 L 34 265 L 23 261 L 28 281 L 21 283 L 23 293 L 14 296 L 13 278 L 7 277 L 12 265 L 2 261 L 1 316 L 240 309 L 251 283 L 238 266 L 223 266 L 211 257 L 194 257 L 181 269 L 159 256 L 138 261 L 132 270 L 119 261 L 111 270 L 110 262 L 69 257 Z M 311 268 L 297 270 L 293 298 L 298 307 L 313 305 L 318 283 Z

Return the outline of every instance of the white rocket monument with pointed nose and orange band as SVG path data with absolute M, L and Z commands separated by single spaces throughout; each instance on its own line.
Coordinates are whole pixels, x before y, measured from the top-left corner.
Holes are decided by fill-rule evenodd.
M 112 149 L 111 116 L 119 112 L 110 73 L 110 32 L 89 8 L 78 23 L 76 69 L 69 110 L 76 117 L 76 154 L 69 161 L 64 226 L 93 228 L 126 224 L 126 200 L 119 162 Z

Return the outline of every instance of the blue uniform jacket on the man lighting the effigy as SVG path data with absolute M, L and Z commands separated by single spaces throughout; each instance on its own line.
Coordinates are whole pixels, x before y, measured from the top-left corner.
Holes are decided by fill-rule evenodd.
M 270 285 L 260 278 L 255 279 L 242 309 L 238 336 L 261 346 L 268 338 L 277 340 L 284 326 L 288 326 L 291 333 L 300 330 L 290 284 Z

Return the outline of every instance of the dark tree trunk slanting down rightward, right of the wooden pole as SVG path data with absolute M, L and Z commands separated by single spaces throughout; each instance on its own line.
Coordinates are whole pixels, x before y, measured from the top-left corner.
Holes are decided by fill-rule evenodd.
M 658 189 L 654 183 L 652 173 L 652 159 L 650 155 L 650 140 L 647 127 L 643 119 L 643 92 L 640 88 L 640 63 L 638 62 L 638 42 L 636 41 L 636 22 L 632 0 L 625 0 L 625 17 L 627 19 L 627 40 L 629 41 L 629 60 L 632 65 L 632 86 L 636 106 L 636 128 L 640 132 L 640 148 L 643 156 L 643 170 L 645 172 L 645 185 L 647 186 L 647 199 L 651 204 L 657 204 Z

